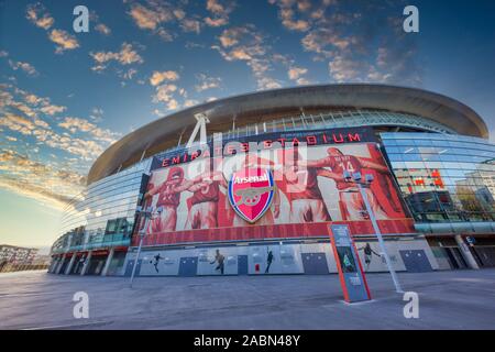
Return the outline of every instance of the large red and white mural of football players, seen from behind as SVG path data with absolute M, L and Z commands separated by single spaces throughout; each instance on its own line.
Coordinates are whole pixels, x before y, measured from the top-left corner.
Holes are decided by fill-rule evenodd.
M 378 220 L 407 218 L 374 143 L 318 145 L 239 153 L 216 163 L 197 158 L 154 170 L 144 202 L 163 211 L 147 233 L 369 220 L 344 172 L 374 176 L 365 191 Z

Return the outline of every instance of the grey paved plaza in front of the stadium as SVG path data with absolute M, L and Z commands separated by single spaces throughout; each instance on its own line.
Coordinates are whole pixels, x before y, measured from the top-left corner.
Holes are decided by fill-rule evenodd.
M 406 319 L 388 274 L 346 305 L 337 275 L 138 277 L 0 274 L 0 329 L 495 329 L 495 270 L 400 273 L 419 295 Z M 89 318 L 75 319 L 76 292 Z

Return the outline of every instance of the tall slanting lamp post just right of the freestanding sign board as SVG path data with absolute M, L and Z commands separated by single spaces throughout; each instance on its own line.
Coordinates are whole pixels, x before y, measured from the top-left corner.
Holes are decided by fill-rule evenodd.
M 370 187 L 370 185 L 373 183 L 374 177 L 373 175 L 364 175 L 364 180 L 361 175 L 361 173 L 354 173 L 351 175 L 350 172 L 345 170 L 343 173 L 343 178 L 346 183 L 354 183 L 358 186 L 358 189 L 360 190 L 361 197 L 363 198 L 364 206 L 366 207 L 367 215 L 370 216 L 370 220 L 373 224 L 373 230 L 375 231 L 376 238 L 378 239 L 380 249 L 383 253 L 383 256 L 385 257 L 385 263 L 387 265 L 388 272 L 391 272 L 392 279 L 394 280 L 395 290 L 398 294 L 404 293 L 400 283 L 398 280 L 397 274 L 395 273 L 395 270 L 392 265 L 391 257 L 388 256 L 388 253 L 385 249 L 385 241 L 382 237 L 382 231 L 380 230 L 378 223 L 376 222 L 375 213 L 373 212 L 373 209 L 370 205 L 370 200 L 367 199 L 367 195 L 365 191 L 365 188 Z

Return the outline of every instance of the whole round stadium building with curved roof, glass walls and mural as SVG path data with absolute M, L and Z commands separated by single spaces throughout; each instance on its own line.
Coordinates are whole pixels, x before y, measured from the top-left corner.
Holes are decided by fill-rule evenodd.
M 63 217 L 51 273 L 337 273 L 331 224 L 366 272 L 495 266 L 495 145 L 451 98 L 383 85 L 253 92 L 112 144 Z M 349 178 L 352 175 L 353 178 Z M 344 177 L 345 176 L 345 177 Z M 142 240 L 142 251 L 138 248 Z

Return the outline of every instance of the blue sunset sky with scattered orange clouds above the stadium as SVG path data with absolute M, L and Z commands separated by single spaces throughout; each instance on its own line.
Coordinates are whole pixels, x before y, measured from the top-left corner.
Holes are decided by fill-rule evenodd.
M 46 249 L 111 143 L 233 95 L 418 87 L 473 108 L 495 141 L 494 62 L 493 0 L 0 0 L 0 244 Z

